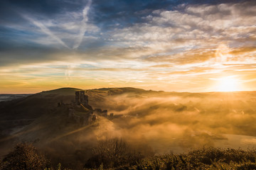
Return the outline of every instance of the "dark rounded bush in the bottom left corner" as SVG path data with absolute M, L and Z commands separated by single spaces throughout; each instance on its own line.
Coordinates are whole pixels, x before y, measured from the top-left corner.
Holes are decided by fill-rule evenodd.
M 48 166 L 46 157 L 29 143 L 18 143 L 1 161 L 1 170 L 41 170 Z

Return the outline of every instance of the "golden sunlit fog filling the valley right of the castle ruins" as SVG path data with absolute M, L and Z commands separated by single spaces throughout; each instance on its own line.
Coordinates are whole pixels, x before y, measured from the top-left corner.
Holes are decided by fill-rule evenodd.
M 198 147 L 255 147 L 255 92 L 122 94 L 97 106 L 122 114 L 107 134 L 144 140 L 157 153 Z M 106 133 L 105 133 L 106 135 Z

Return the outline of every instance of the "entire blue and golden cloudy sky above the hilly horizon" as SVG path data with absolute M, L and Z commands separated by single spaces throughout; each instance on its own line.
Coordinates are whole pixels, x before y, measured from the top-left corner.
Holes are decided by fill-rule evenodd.
M 1 0 L 0 94 L 255 91 L 256 1 Z

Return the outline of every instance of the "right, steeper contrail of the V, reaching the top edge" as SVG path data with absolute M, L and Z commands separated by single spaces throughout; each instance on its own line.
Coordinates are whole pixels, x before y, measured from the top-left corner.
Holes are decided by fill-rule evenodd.
M 83 19 L 82 19 L 82 22 L 81 22 L 80 32 L 79 32 L 79 35 L 78 35 L 78 39 L 75 40 L 75 44 L 73 46 L 73 49 L 77 49 L 80 46 L 80 44 L 82 42 L 82 38 L 85 35 L 86 24 L 87 24 L 87 21 L 88 21 L 87 13 L 90 9 L 91 4 L 92 4 L 92 0 L 89 0 L 87 5 L 85 6 L 85 8 L 82 11 Z

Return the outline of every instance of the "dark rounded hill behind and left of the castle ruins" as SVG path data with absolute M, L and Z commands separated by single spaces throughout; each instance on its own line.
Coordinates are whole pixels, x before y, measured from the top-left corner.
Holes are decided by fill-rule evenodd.
M 74 94 L 77 90 L 80 89 L 61 88 L 0 102 L 0 132 L 15 132 L 42 115 L 51 113 L 59 102 L 71 103 L 75 100 Z

